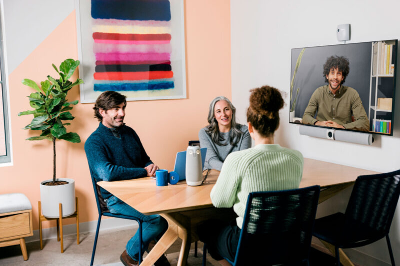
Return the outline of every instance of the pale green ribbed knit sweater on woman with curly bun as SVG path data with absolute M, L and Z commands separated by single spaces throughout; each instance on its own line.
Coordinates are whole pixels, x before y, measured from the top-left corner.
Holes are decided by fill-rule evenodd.
M 229 154 L 223 162 L 211 201 L 216 208 L 230 208 L 243 223 L 247 196 L 250 192 L 298 188 L 303 171 L 299 151 L 278 144 L 258 144 L 254 148 Z

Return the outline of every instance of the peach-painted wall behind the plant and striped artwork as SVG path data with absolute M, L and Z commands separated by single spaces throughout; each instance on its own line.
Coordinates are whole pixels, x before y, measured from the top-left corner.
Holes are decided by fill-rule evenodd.
M 185 150 L 187 141 L 197 139 L 198 130 L 206 125 L 212 98 L 231 96 L 229 1 L 185 1 L 185 34 L 187 98 L 130 101 L 126 107 L 126 124 L 136 130 L 153 162 L 169 170 L 173 168 L 176 152 Z M 33 209 L 34 229 L 38 228 L 39 183 L 52 176 L 52 149 L 51 142 L 24 140 L 34 135 L 22 130 L 32 117 L 18 117 L 17 113 L 30 109 L 25 96 L 33 90 L 20 81 L 30 78 L 39 82 L 48 74 L 54 76 L 51 63 L 58 66 L 65 58 L 77 58 L 75 12 L 70 13 L 8 76 L 13 166 L 0 168 L 0 193 L 20 192 L 28 197 Z M 77 87 L 68 96 L 68 100 L 76 99 L 79 99 Z M 79 103 L 71 111 L 75 119 L 68 131 L 77 132 L 82 142 L 56 142 L 56 174 L 75 180 L 80 222 L 97 219 L 83 150 L 84 141 L 97 127 L 92 106 Z M 73 223 L 73 219 L 68 220 L 66 224 Z M 43 227 L 53 226 L 53 223 L 43 224 Z

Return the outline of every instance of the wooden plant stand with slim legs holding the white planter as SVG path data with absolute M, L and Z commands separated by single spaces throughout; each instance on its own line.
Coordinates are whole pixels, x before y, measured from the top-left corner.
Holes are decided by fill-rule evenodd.
M 43 221 L 51 221 L 51 220 L 56 220 L 56 225 L 57 225 L 57 241 L 61 240 L 61 253 L 64 253 L 64 245 L 62 242 L 62 219 L 67 219 L 67 218 L 76 218 L 76 244 L 79 245 L 79 211 L 78 211 L 78 197 L 75 197 L 75 203 L 76 203 L 76 211 L 66 217 L 62 217 L 62 204 L 59 203 L 59 218 L 47 218 L 44 217 L 41 214 L 41 204 L 40 201 L 38 202 L 39 205 L 39 236 L 40 236 L 40 250 L 43 249 L 43 242 L 42 242 L 42 236 L 41 236 L 41 222 Z

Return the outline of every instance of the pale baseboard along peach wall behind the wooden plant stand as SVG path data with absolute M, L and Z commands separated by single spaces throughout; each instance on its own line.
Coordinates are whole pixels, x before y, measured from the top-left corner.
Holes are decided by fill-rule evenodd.
M 79 234 L 96 232 L 97 220 L 79 223 Z M 132 227 L 132 229 L 138 229 L 139 226 L 136 221 L 119 218 L 108 218 L 101 219 L 99 231 L 110 230 L 110 229 L 122 229 L 126 227 Z M 57 237 L 57 228 L 50 227 L 41 230 L 42 239 L 53 239 Z M 62 235 L 76 235 L 76 224 L 64 225 L 62 227 Z M 25 242 L 39 241 L 39 230 L 33 230 L 33 236 L 25 238 Z

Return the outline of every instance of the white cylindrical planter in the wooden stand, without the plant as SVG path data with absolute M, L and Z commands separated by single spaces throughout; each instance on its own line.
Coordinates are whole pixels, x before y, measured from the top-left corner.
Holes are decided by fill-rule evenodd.
M 68 184 L 60 186 L 44 186 L 46 182 L 52 179 L 44 180 L 40 183 L 40 203 L 41 213 L 44 217 L 58 218 L 59 207 L 62 204 L 62 217 L 72 215 L 76 210 L 75 205 L 75 181 L 70 178 L 57 178 L 55 181 L 66 181 Z

